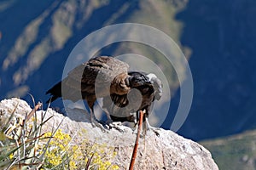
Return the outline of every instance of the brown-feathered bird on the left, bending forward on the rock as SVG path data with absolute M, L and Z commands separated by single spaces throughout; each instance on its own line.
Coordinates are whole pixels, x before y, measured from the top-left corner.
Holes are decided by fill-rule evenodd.
M 73 102 L 84 99 L 90 108 L 90 121 L 93 127 L 96 125 L 102 128 L 94 114 L 93 106 L 96 99 L 109 95 L 125 95 L 129 93 L 131 86 L 136 87 L 145 83 L 128 75 L 128 68 L 129 65 L 113 57 L 101 56 L 90 59 L 75 67 L 66 78 L 50 88 L 46 92 L 51 94 L 47 102 L 60 97 Z M 108 111 L 106 114 L 108 122 L 112 122 Z

